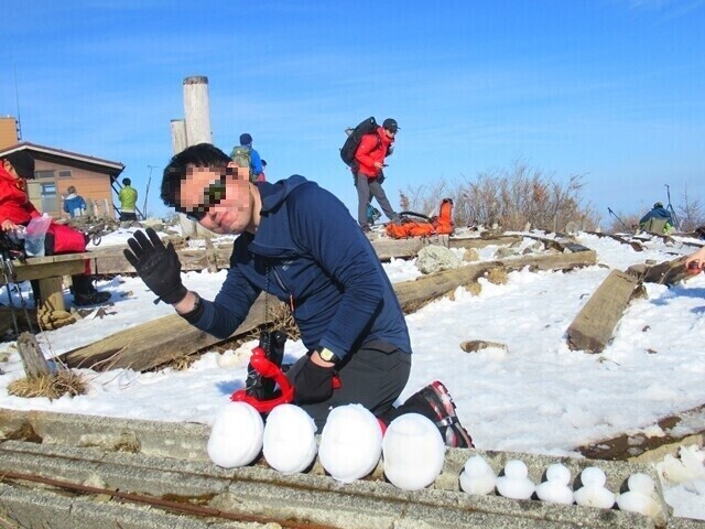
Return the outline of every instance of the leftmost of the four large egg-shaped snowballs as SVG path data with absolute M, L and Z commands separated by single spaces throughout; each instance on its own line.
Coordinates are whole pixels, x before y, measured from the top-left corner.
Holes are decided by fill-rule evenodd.
M 249 465 L 262 450 L 264 422 L 247 402 L 229 402 L 218 413 L 208 438 L 208 457 L 225 468 Z

